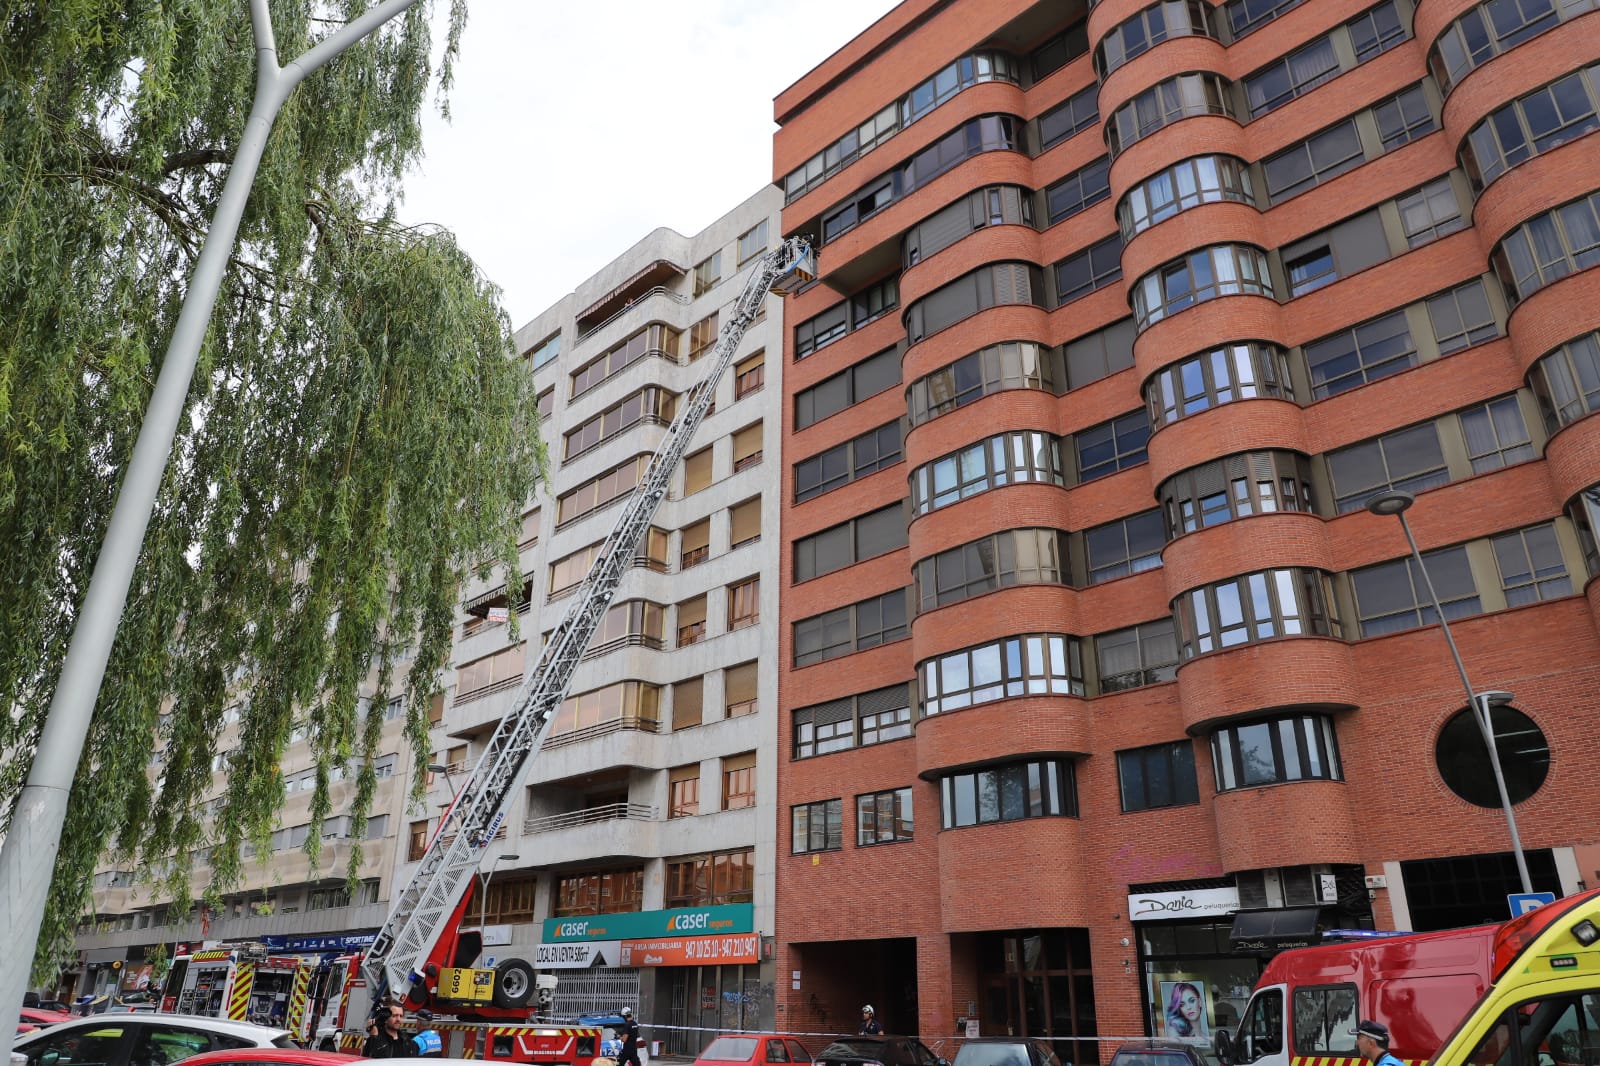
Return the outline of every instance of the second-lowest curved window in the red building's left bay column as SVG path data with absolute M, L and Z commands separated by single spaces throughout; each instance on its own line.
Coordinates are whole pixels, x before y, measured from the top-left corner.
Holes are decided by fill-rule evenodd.
M 923 717 L 1013 696 L 1082 696 L 1078 639 L 1027 634 L 928 659 L 922 677 Z

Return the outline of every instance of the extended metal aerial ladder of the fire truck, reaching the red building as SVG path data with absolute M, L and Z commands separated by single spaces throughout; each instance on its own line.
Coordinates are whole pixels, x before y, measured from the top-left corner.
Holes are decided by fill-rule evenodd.
M 733 306 L 733 314 L 718 331 L 710 370 L 691 389 L 688 403 L 667 426 L 645 477 L 600 546 L 594 568 L 578 586 L 566 615 L 550 632 L 539 663 L 517 693 L 512 711 L 501 719 L 483 749 L 483 757 L 445 813 L 446 820 L 456 820 L 456 831 L 434 834 L 411 880 L 395 895 L 387 922 L 362 960 L 362 973 L 374 992 L 373 1002 L 378 1002 L 386 991 L 408 996 L 413 981 L 426 981 L 422 967 L 430 952 L 450 932 L 448 925 L 459 922 L 467 887 L 483 856 L 480 845 L 493 839 L 499 829 L 507 799 L 522 786 L 533 757 L 544 744 L 555 722 L 555 712 L 566 699 L 578 663 L 611 607 L 622 575 L 634 565 L 650 520 L 667 495 L 672 472 L 706 418 L 717 383 L 733 363 L 739 341 L 762 312 L 768 293 L 790 293 L 810 282 L 814 274 L 811 246 L 798 237 L 790 237 L 757 261 Z M 526 1002 L 525 994 L 512 999 Z

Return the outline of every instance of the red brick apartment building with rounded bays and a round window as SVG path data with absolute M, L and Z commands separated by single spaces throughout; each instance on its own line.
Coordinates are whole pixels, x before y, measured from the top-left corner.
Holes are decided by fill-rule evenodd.
M 1600 880 L 1597 6 L 906 0 L 778 96 L 779 1028 L 1094 1061 L 1504 919 L 1389 488 L 1533 887 Z

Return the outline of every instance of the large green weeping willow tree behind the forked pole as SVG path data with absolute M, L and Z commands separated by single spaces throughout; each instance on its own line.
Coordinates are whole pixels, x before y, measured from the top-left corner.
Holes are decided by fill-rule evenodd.
M 390 21 L 274 126 L 77 770 L 38 972 L 70 946 L 102 858 L 187 901 L 190 856 L 211 848 L 198 888 L 237 885 L 242 845 L 275 828 L 296 727 L 317 763 L 307 848 L 347 765 L 360 840 L 382 725 L 363 696 L 405 696 L 426 765 L 462 581 L 504 567 L 520 586 L 518 515 L 544 469 L 528 378 L 498 290 L 448 234 L 392 211 L 464 3 L 437 50 L 426 5 Z M 366 6 L 275 0 L 278 54 Z M 246 0 L 0 11 L 5 818 L 253 82 Z M 222 805 L 202 818 L 234 704 Z

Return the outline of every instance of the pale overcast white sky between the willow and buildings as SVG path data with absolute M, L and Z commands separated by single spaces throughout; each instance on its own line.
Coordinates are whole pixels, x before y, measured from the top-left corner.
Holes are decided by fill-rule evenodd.
M 522 327 L 654 227 L 698 234 L 771 181 L 773 96 L 893 6 L 474 0 L 402 218 L 454 230 Z

